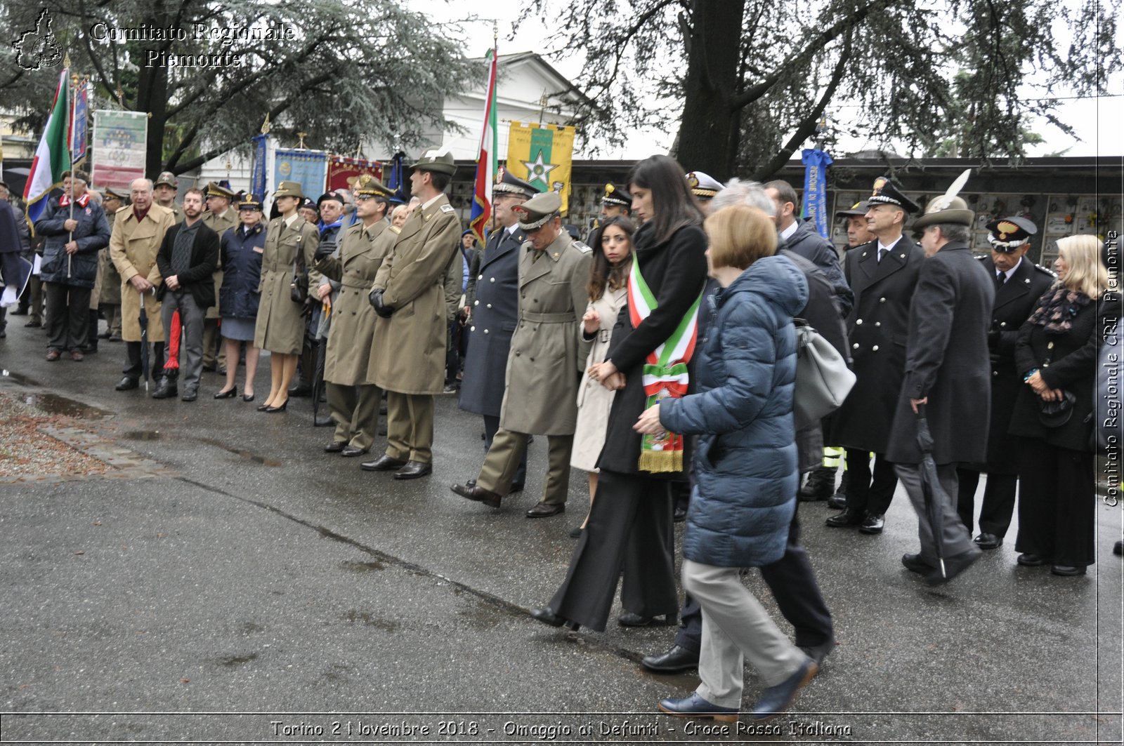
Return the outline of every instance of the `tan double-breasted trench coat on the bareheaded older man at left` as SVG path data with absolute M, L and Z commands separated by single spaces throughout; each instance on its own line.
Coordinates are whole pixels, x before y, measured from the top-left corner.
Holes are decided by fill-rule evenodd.
M 156 252 L 164 234 L 174 225 L 172 211 L 155 203 L 148 208 L 144 220 L 137 221 L 132 207 L 123 207 L 114 219 L 109 256 L 121 275 L 121 338 L 125 342 L 140 342 L 140 293 L 129 280 L 139 274 L 160 286 L 164 280 L 156 266 Z M 144 308 L 148 316 L 148 342 L 164 342 L 156 293 L 145 293 Z

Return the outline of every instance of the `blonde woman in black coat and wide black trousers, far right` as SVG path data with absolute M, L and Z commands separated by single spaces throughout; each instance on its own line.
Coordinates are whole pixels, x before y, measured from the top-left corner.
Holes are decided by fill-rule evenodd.
M 1018 330 L 1018 392 L 1010 433 L 1022 436 L 1018 564 L 1084 575 L 1094 562 L 1096 493 L 1090 443 L 1097 347 L 1120 318 L 1095 236 L 1058 242 L 1057 282 Z M 1062 404 L 1062 402 L 1067 402 Z M 1058 411 L 1059 407 L 1062 407 Z

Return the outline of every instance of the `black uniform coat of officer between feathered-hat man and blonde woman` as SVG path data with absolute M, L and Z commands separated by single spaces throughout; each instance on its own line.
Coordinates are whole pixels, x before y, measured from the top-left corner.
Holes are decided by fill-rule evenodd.
M 990 256 L 978 260 L 995 281 L 995 263 Z M 991 427 L 988 430 L 987 462 L 964 464 L 966 467 L 988 474 L 1018 473 L 1018 438 L 1008 435 L 1010 413 L 1019 389 L 1027 388 L 1015 370 L 1015 342 L 1018 329 L 1037 306 L 1039 298 L 1054 281 L 1049 270 L 1034 264 L 1025 256 L 1015 271 L 995 291 L 988 348 L 991 352 Z

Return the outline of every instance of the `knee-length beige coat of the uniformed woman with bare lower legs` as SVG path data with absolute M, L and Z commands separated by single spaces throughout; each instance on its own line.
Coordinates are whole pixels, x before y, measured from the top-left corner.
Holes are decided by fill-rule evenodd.
M 320 233 L 303 218 L 297 217 L 287 227 L 283 218 L 273 218 L 265 228 L 262 253 L 262 282 L 257 286 L 257 324 L 254 346 L 271 353 L 296 355 L 305 342 L 305 319 L 301 304 L 292 302 L 292 265 L 305 274 L 320 243 Z M 298 254 L 297 247 L 300 247 Z

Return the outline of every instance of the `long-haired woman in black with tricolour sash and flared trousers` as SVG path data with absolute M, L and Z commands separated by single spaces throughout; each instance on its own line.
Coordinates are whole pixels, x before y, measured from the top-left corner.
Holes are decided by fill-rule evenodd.
M 682 447 L 685 438 L 673 445 L 653 442 L 652 436 L 635 433 L 633 425 L 650 406 L 643 382 L 649 357 L 677 330 L 692 328 L 697 317 L 706 282 L 706 236 L 703 213 L 674 160 L 645 158 L 633 166 L 628 182 L 633 211 L 644 221 L 633 236 L 634 276 L 640 275 L 646 292 L 629 279 L 628 301 L 617 318 L 606 360 L 588 371 L 617 395 L 586 530 L 550 606 L 532 612 L 554 627 L 584 625 L 604 631 L 622 568 L 622 606 L 634 619 L 665 616 L 673 624 L 679 608 L 670 484 L 682 479 L 690 454 Z M 645 300 L 634 303 L 634 299 Z M 683 357 L 689 363 L 690 356 Z M 691 391 L 689 369 L 687 373 L 685 393 Z

